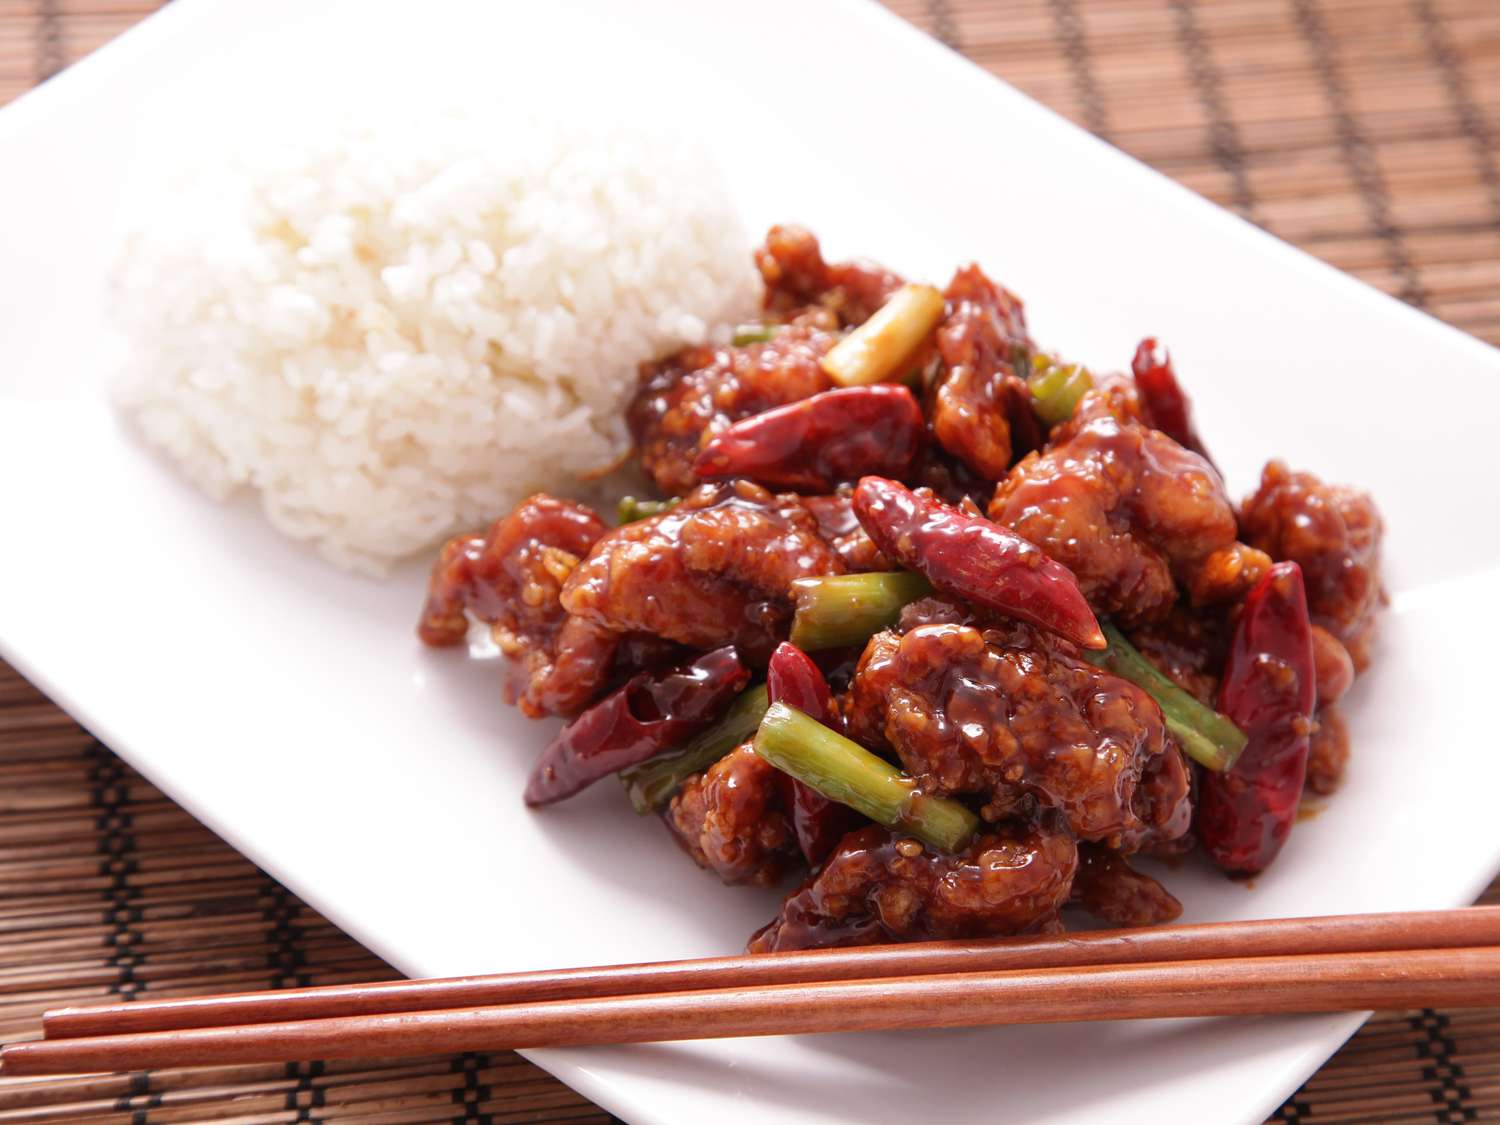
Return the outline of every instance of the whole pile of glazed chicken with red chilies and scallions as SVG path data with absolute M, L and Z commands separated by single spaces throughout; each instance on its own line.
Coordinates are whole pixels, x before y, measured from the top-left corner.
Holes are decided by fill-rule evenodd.
M 620 772 L 720 880 L 812 872 L 756 952 L 1150 926 L 1182 908 L 1132 856 L 1262 870 L 1348 760 L 1370 498 L 1270 462 L 1236 512 L 1154 339 L 1096 378 L 978 266 L 939 300 L 798 226 L 754 261 L 762 322 L 640 370 L 670 502 L 532 496 L 434 568 L 423 640 L 488 622 L 572 717 L 526 802 Z

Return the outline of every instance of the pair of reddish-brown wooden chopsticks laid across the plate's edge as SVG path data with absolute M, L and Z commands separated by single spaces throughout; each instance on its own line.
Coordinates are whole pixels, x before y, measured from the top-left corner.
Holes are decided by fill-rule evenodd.
M 736 1035 L 1500 1005 L 1500 908 L 286 988 L 62 1008 L 4 1074 Z

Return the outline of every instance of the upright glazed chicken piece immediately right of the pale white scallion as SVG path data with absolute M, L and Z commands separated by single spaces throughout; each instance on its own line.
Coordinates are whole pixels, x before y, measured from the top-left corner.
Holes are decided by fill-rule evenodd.
M 1041 444 L 1030 392 L 1016 374 L 1030 346 L 1020 298 L 978 266 L 958 270 L 944 294 L 940 364 L 930 420 L 938 442 L 984 480 L 999 480 L 1016 453 Z

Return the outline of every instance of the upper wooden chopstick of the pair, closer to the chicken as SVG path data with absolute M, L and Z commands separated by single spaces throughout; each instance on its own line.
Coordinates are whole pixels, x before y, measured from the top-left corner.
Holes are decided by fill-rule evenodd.
M 81 1038 L 810 981 L 1479 945 L 1500 945 L 1500 906 L 922 942 L 135 1000 L 50 1011 L 42 1017 L 42 1032 L 50 1040 Z

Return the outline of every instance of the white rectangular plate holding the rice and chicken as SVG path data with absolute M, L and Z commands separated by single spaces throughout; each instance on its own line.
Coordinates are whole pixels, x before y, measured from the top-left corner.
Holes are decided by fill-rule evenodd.
M 102 400 L 122 186 L 266 98 L 627 100 L 700 134 L 747 222 L 942 282 L 981 261 L 1100 366 L 1161 336 L 1244 494 L 1274 454 L 1370 488 L 1392 608 L 1344 790 L 1254 888 L 1186 866 L 1188 918 L 1454 906 L 1497 866 L 1490 714 L 1500 354 L 1059 120 L 878 8 L 796 0 L 178 0 L 0 112 L 0 648 L 105 742 L 412 975 L 738 950 L 718 886 L 610 784 L 546 813 L 548 728 L 492 664 L 412 638 L 422 573 L 345 578 L 219 507 Z M 638 1122 L 1254 1122 L 1358 1016 L 537 1052 Z

